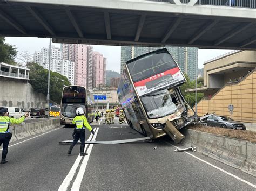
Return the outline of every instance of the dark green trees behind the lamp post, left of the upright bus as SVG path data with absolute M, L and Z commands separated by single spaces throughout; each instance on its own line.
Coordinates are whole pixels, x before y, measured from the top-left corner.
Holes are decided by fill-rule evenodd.
M 48 87 L 48 70 L 44 69 L 37 63 L 28 63 L 30 69 L 30 84 L 38 92 L 45 96 L 47 95 Z M 69 80 L 57 73 L 50 72 L 50 99 L 56 103 L 60 103 L 62 97 L 62 89 L 64 86 L 69 86 Z

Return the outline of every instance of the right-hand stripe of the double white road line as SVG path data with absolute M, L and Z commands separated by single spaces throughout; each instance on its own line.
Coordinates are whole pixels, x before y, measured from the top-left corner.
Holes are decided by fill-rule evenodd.
M 92 141 L 96 139 L 98 131 L 99 131 L 99 128 L 97 128 L 97 130 L 95 132 L 95 135 L 93 136 Z M 80 189 L 81 182 L 82 182 L 82 180 L 84 178 L 85 169 L 86 169 L 86 166 L 87 166 L 87 163 L 88 163 L 88 160 L 89 160 L 89 157 L 90 157 L 93 145 L 94 144 L 90 144 L 90 146 L 89 146 L 89 148 L 87 150 L 88 155 L 85 156 L 84 160 L 82 161 L 81 167 L 79 169 L 79 172 L 77 174 L 77 177 L 76 177 L 76 179 L 75 179 L 75 181 L 73 183 L 73 186 L 72 186 L 71 190 L 79 190 Z

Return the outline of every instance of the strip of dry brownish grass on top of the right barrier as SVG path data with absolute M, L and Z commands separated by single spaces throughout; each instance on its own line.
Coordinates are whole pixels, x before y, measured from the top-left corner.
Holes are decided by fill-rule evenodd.
M 215 135 L 222 135 L 222 136 L 240 139 L 240 140 L 248 140 L 248 142 L 256 143 L 256 132 L 253 132 L 253 131 L 224 129 L 224 128 L 217 128 L 217 127 L 203 126 L 203 125 L 199 125 L 199 126 L 191 125 L 191 126 L 188 126 L 187 129 L 212 133 Z

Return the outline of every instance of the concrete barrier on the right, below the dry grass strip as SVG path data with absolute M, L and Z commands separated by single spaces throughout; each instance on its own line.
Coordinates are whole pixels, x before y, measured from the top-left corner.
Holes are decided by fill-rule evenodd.
M 196 146 L 197 151 L 256 177 L 256 143 L 211 133 L 183 129 L 181 144 Z

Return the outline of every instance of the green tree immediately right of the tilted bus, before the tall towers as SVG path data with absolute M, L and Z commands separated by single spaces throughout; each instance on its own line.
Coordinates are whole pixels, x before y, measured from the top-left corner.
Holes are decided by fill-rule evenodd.
M 195 84 L 196 81 L 191 81 L 189 79 L 189 77 L 187 76 L 187 74 L 184 74 L 185 78 L 187 80 L 186 83 L 184 83 L 181 87 L 181 93 L 183 94 L 185 100 L 187 101 L 188 104 L 190 104 L 191 107 L 194 106 L 194 104 L 196 103 L 196 93 L 192 93 L 192 92 L 185 92 L 185 89 L 191 89 L 191 88 L 195 88 Z M 204 79 L 202 81 L 202 79 L 197 79 L 197 87 L 201 87 L 204 84 Z M 201 98 L 204 97 L 203 93 L 197 93 L 197 102 L 199 102 L 201 100 Z

